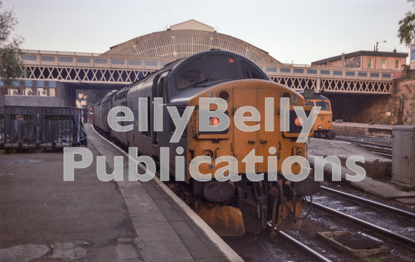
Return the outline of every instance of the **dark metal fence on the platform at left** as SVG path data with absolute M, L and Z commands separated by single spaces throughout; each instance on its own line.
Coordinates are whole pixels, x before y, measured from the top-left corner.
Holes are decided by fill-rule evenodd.
M 60 148 L 86 144 L 81 111 L 71 107 L 0 107 L 0 147 Z

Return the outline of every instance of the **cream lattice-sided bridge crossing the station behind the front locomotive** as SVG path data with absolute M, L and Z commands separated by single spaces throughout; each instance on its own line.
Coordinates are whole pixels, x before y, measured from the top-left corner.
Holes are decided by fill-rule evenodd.
M 26 79 L 103 84 L 129 84 L 160 69 L 172 59 L 126 55 L 26 50 Z M 392 94 L 393 71 L 371 68 L 258 63 L 274 82 L 294 90 L 329 93 Z

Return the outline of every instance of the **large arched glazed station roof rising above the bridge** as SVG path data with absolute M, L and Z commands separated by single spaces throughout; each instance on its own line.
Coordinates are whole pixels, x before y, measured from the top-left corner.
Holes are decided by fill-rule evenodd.
M 195 20 L 171 26 L 166 31 L 136 37 L 113 46 L 106 54 L 179 59 L 210 49 L 237 53 L 254 63 L 280 63 L 267 52 L 230 35 L 217 33 L 212 27 Z

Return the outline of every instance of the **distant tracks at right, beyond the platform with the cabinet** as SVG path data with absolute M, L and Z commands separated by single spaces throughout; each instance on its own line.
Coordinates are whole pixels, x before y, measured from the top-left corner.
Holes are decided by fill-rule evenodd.
M 368 135 L 336 133 L 335 141 L 349 142 L 363 147 L 373 153 L 392 158 L 392 138 L 373 137 Z

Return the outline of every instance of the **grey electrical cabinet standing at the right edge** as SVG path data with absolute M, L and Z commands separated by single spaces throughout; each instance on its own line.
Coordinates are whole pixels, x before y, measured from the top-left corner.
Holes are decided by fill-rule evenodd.
M 392 181 L 415 187 L 415 126 L 392 127 Z

